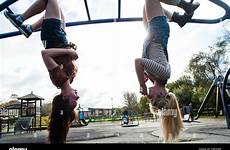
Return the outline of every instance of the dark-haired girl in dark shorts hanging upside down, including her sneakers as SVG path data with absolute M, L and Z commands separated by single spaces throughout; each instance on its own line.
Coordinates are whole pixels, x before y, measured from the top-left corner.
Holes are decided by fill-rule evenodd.
M 45 10 L 45 15 L 32 25 L 23 22 Z M 42 58 L 52 83 L 61 93 L 54 97 L 49 122 L 50 143 L 66 143 L 66 136 L 75 118 L 74 108 L 79 98 L 71 87 L 77 73 L 75 60 L 78 58 L 76 45 L 66 38 L 65 21 L 57 0 L 37 0 L 23 14 L 4 12 L 5 16 L 20 32 L 29 37 L 41 27 L 41 40 L 45 47 Z

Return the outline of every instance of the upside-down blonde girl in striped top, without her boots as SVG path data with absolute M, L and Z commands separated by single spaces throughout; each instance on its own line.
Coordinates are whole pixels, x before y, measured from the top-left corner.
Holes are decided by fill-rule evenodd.
M 142 58 L 135 59 L 140 93 L 149 97 L 152 113 L 161 112 L 164 141 L 174 141 L 179 136 L 183 123 L 176 96 L 165 87 L 171 76 L 167 51 L 170 28 L 159 0 L 145 0 L 143 15 L 148 35 L 144 42 Z M 153 83 L 149 93 L 147 79 Z

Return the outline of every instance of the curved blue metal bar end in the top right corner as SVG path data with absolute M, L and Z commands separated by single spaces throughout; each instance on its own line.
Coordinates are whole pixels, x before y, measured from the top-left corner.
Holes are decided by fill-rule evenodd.
M 230 7 L 223 1 L 221 0 L 209 0 L 212 3 L 218 5 L 219 7 L 223 8 L 225 10 L 225 15 L 217 18 L 217 19 L 191 19 L 190 23 L 205 23 L 205 24 L 214 24 L 214 23 L 219 23 L 221 21 L 224 21 L 226 19 L 230 19 Z

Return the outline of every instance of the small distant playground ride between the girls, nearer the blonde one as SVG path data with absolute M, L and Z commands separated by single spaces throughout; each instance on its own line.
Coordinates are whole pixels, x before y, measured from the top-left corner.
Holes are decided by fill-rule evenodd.
M 139 120 L 134 112 L 130 112 L 127 115 L 121 116 L 121 126 L 122 127 L 135 127 L 138 125 L 139 125 Z

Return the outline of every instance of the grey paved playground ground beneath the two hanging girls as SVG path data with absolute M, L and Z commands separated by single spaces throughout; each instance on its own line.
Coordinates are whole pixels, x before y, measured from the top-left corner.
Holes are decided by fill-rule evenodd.
M 184 123 L 175 143 L 230 143 L 230 129 L 222 119 L 199 119 Z M 47 143 L 47 131 L 3 135 L 0 143 Z M 67 143 L 162 143 L 159 122 L 140 121 L 139 126 L 121 127 L 120 122 L 90 123 L 71 128 Z

